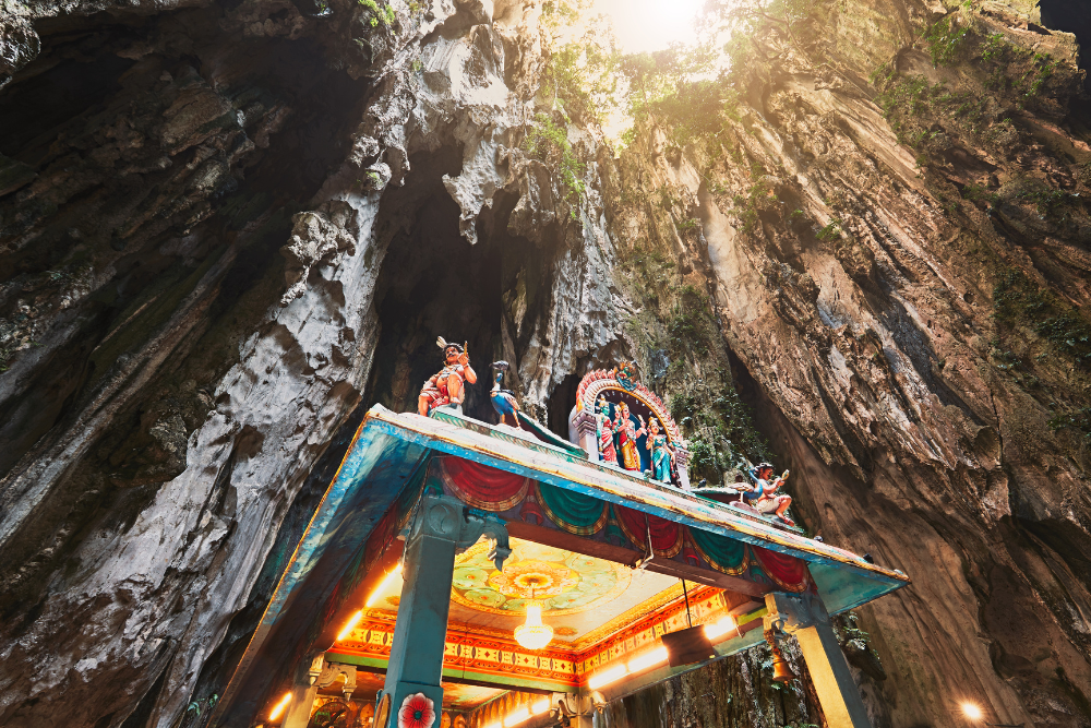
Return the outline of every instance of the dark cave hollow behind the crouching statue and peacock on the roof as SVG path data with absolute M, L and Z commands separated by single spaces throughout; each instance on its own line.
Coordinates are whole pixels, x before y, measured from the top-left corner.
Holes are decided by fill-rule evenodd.
M 478 223 L 477 244 L 460 236 L 458 205 L 442 182 L 460 167 L 460 151 L 454 147 L 415 158 L 411 168 L 420 171 L 384 196 L 384 211 L 409 222 L 391 240 L 375 288 L 380 338 L 363 407 L 380 403 L 395 411 L 416 411 L 421 385 L 443 366 L 436 346 L 442 336 L 468 345 L 478 375 L 467 386 L 464 411 L 496 421 L 489 403 L 489 365 L 508 359 L 513 369 L 517 366 L 538 311 L 528 307 L 521 335 L 505 336 L 505 330 L 517 329 L 506 301 L 520 278 L 531 291 L 549 290 L 551 265 L 530 241 L 507 234 L 507 216 L 517 201 L 513 195 L 497 195 L 500 203 Z M 517 389 L 515 377 L 505 377 L 506 389 Z M 566 426 L 558 432 L 566 435 Z

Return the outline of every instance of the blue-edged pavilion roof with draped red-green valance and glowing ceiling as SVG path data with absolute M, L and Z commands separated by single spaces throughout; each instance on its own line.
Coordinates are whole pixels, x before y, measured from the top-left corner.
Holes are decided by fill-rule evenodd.
M 591 688 L 597 675 L 635 665 L 634 657 L 691 620 L 733 616 L 736 629 L 712 641 L 712 657 L 720 658 L 764 639 L 770 595 L 824 604 L 820 611 L 834 614 L 909 583 L 901 572 L 799 529 L 604 465 L 577 445 L 537 432 L 453 410 L 421 417 L 373 407 L 211 725 L 276 724 L 268 716 L 286 692 L 292 697 L 279 718 L 283 728 L 317 725 L 321 690 L 340 691 L 345 702 L 372 715 L 375 691 L 384 684 L 394 695 L 394 715 L 403 696 L 392 692 L 392 676 L 397 672 L 406 684 L 427 682 L 417 673 L 430 667 L 406 665 L 431 651 L 436 684 L 422 687 L 421 694 L 439 696 L 435 709 L 444 721 L 458 718 L 456 728 L 458 721 L 485 728 L 495 723 L 488 711 L 495 713 L 506 691 L 594 692 L 602 700 L 692 669 L 627 669 L 624 679 Z M 681 439 L 678 444 L 684 445 Z M 458 504 L 449 518 L 506 533 L 511 553 L 503 570 L 485 540 L 460 544 L 451 536 L 453 556 L 415 556 L 423 553 L 428 538 L 435 541 L 434 534 L 421 535 L 430 527 L 428 509 L 449 503 Z M 405 585 L 389 577 L 399 560 L 406 563 Z M 422 621 L 424 612 L 410 611 L 423 604 L 428 588 L 434 595 L 435 584 L 442 619 L 430 607 L 424 617 L 432 621 Z M 512 637 L 531 597 L 543 601 L 543 620 L 554 629 L 539 651 Z M 413 648 L 425 633 L 434 633 L 434 647 Z M 362 715 L 359 723 L 370 725 Z M 399 725 L 396 715 L 388 720 L 376 728 Z

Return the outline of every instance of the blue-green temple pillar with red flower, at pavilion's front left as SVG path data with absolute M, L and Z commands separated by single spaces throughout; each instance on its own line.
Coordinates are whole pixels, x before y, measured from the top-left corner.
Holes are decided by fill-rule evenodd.
M 405 552 L 405 586 L 398 602 L 391 659 L 380 702 L 389 708 L 384 726 L 397 728 L 398 713 L 415 695 L 431 701 L 433 726 L 439 728 L 443 707 L 443 649 L 451 607 L 451 580 L 455 554 L 482 536 L 495 542 L 490 554 L 496 568 L 512 551 L 504 524 L 491 516 L 472 513 L 449 496 L 425 496 L 409 523 Z M 387 703 L 387 697 L 388 703 Z

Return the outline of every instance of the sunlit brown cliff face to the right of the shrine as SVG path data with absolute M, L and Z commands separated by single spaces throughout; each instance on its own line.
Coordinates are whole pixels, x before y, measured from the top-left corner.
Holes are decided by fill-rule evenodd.
M 1010 8 L 934 10 L 832 9 L 810 44 L 770 28 L 733 120 L 640 130 L 612 229 L 699 220 L 808 527 L 912 574 L 861 610 L 875 723 L 972 699 L 1088 725 L 1082 74 L 1072 36 Z

